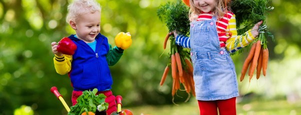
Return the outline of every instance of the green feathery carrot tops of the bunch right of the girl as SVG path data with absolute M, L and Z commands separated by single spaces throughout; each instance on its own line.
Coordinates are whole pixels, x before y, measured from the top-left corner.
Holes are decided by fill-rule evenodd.
M 236 15 L 236 29 L 237 34 L 244 35 L 244 32 L 251 29 L 257 22 L 263 21 L 259 28 L 263 28 L 262 32 L 259 33 L 258 39 L 261 40 L 263 48 L 266 48 L 266 37 L 269 36 L 273 41 L 273 35 L 268 32 L 268 27 L 266 24 L 266 16 L 268 15 L 267 11 L 273 9 L 272 6 L 269 6 L 268 2 L 270 0 L 232 0 L 231 9 Z M 241 27 L 243 26 L 243 27 Z M 235 45 L 242 41 L 242 37 L 235 40 Z M 256 40 L 254 40 L 255 42 Z M 245 48 L 250 49 L 250 46 L 253 43 L 250 43 L 246 47 L 239 49 L 238 51 L 231 53 L 231 55 L 239 54 L 243 52 Z

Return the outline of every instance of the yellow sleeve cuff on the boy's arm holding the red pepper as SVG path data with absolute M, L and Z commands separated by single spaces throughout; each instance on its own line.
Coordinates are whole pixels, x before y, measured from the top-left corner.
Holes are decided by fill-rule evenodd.
M 71 70 L 72 55 L 63 54 L 53 57 L 54 67 L 58 74 L 65 74 Z

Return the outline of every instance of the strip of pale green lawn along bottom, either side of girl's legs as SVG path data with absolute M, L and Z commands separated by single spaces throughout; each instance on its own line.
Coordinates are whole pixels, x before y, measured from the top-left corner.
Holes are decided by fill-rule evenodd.
M 192 98 L 191 98 L 192 99 Z M 195 99 L 187 103 L 177 103 L 179 105 L 145 105 L 138 107 L 122 107 L 129 109 L 134 115 L 153 114 L 153 115 L 198 115 L 199 109 Z M 236 103 L 237 115 L 301 115 L 301 101 L 288 103 L 286 100 L 274 101 L 251 101 Z

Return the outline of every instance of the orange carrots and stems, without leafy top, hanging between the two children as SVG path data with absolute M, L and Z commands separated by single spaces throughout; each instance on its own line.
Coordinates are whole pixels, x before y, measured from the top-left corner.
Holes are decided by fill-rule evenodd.
M 175 38 L 173 34 L 168 33 L 164 40 L 163 48 L 166 48 L 167 40 L 170 39 L 170 52 L 169 52 L 169 62 L 164 70 L 160 85 L 163 85 L 167 73 L 169 71 L 169 66 L 171 66 L 172 73 L 172 97 L 175 92 L 180 89 L 180 83 L 184 86 L 186 92 L 188 93 L 188 98 L 190 97 L 190 91 L 192 95 L 195 96 L 194 91 L 194 81 L 193 81 L 193 67 L 190 61 L 189 52 L 182 46 L 175 44 Z M 187 100 L 188 100 L 187 98 Z M 186 101 L 187 101 L 186 100 Z

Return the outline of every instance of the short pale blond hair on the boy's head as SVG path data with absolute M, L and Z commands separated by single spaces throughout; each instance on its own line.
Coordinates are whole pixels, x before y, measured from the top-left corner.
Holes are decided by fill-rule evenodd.
M 68 5 L 66 21 L 69 23 L 70 20 L 75 21 L 81 14 L 94 13 L 96 11 L 101 12 L 101 7 L 95 0 L 74 0 Z

